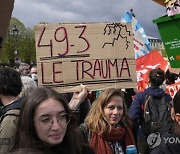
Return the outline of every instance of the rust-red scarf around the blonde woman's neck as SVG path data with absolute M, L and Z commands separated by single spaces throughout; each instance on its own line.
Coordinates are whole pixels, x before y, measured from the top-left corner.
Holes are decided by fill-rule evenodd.
M 95 154 L 113 154 L 113 150 L 108 142 L 118 141 L 123 141 L 125 146 L 135 145 L 133 134 L 127 126 L 113 128 L 105 136 L 92 133 L 90 146 L 94 149 Z

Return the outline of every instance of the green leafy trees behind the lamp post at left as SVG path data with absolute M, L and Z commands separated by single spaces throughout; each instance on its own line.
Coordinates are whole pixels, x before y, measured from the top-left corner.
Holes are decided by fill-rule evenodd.
M 13 33 L 15 25 L 18 29 L 18 35 Z M 16 62 L 20 61 L 29 64 L 36 62 L 34 31 L 31 28 L 26 28 L 17 18 L 12 17 L 0 55 L 0 63 L 14 66 Z

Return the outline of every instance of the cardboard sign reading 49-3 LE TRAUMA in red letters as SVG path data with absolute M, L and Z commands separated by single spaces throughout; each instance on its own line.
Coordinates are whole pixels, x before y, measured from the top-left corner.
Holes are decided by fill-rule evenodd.
M 35 26 L 38 84 L 59 92 L 136 87 L 130 24 L 62 23 Z

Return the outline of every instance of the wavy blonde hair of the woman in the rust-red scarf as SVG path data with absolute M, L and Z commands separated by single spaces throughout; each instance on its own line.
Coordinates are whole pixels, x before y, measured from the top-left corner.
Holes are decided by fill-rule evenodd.
M 85 119 L 85 124 L 90 131 L 98 135 L 104 135 L 111 131 L 111 125 L 104 115 L 104 108 L 113 96 L 120 96 L 123 99 L 123 115 L 120 123 L 131 127 L 131 121 L 127 115 L 127 109 L 124 102 L 124 94 L 120 89 L 107 89 L 93 102 L 92 107 Z

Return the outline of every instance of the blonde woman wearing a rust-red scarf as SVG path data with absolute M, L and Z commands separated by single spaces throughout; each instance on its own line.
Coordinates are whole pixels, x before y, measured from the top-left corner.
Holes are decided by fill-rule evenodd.
M 120 89 L 103 91 L 77 130 L 96 154 L 125 153 L 126 146 L 135 144 Z

